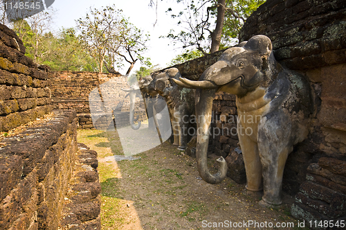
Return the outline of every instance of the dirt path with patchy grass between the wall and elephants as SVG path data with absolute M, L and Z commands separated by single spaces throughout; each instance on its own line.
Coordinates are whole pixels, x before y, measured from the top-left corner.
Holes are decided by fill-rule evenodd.
M 121 154 L 116 132 L 79 130 L 78 141 L 99 153 L 103 229 L 303 229 L 287 204 L 263 208 L 228 177 L 207 184 L 195 159 L 170 143 L 134 156 L 140 159 L 113 161 Z

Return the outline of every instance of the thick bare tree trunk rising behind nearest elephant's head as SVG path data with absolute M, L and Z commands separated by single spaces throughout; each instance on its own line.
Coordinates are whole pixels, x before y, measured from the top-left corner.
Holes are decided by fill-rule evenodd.
M 221 44 L 222 28 L 224 28 L 226 0 L 219 0 L 217 3 L 219 4 L 219 6 L 217 7 L 217 25 L 215 27 L 215 30 L 210 35 L 212 37 L 210 53 L 215 53 L 216 51 L 219 51 L 219 47 Z

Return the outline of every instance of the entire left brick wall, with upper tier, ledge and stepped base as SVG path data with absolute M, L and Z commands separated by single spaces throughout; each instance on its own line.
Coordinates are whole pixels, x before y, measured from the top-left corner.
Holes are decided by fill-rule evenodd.
M 17 35 L 0 24 L 0 229 L 64 228 L 61 218 L 71 209 L 74 226 L 100 229 L 96 154 L 78 151 L 75 112 L 50 113 L 48 67 L 24 53 Z M 67 188 L 74 196 L 65 196 Z M 85 188 L 89 197 L 68 202 Z

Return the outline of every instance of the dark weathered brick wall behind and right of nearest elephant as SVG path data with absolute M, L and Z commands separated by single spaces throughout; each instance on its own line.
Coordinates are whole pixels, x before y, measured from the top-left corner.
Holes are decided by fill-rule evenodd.
M 240 40 L 259 34 L 315 91 L 311 134 L 285 168 L 286 191 L 297 193 L 291 212 L 307 221 L 345 220 L 346 1 L 268 0 L 248 18 Z

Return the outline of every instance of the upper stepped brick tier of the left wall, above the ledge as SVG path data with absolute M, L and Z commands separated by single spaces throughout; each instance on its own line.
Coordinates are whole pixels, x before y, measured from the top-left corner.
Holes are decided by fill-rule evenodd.
M 47 67 L 26 57 L 23 42 L 0 24 L 0 132 L 51 112 Z

